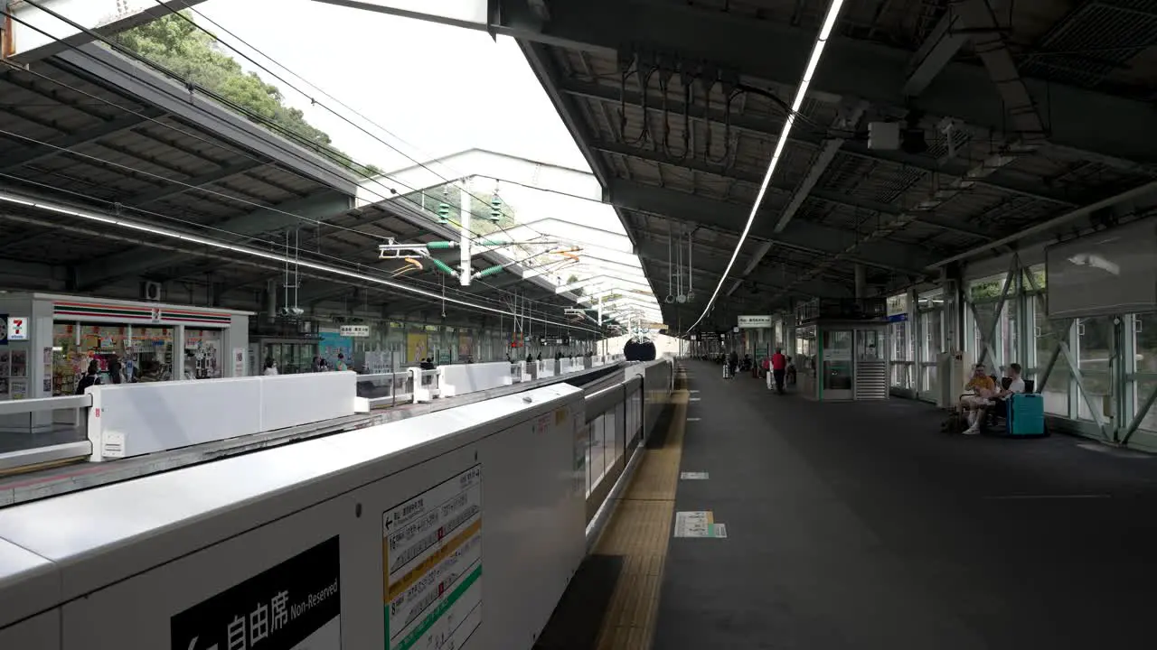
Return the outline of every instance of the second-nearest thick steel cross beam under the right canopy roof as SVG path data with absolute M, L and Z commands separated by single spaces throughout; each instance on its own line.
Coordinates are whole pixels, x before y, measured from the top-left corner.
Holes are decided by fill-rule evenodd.
M 750 208 L 686 192 L 642 185 L 629 180 L 614 180 L 607 189 L 607 202 L 643 213 L 697 223 L 727 232 L 739 232 Z M 774 214 L 761 210 L 756 215 L 750 236 L 773 241 L 778 245 L 819 254 L 835 254 L 856 243 L 856 234 L 817 223 L 797 221 L 791 228 L 775 234 Z M 935 263 L 927 249 L 897 242 L 871 243 L 860 257 L 848 259 L 877 268 L 920 274 L 920 268 Z

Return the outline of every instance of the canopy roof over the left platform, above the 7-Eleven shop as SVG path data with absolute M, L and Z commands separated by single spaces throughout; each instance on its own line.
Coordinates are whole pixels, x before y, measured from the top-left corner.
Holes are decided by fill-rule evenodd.
M 598 330 L 565 311 L 585 304 L 578 295 L 519 264 L 469 288 L 391 279 L 379 243 L 457 232 L 397 200 L 407 189 L 389 175 L 359 176 L 100 44 L 38 52 L 27 69 L 0 68 L 5 288 L 133 298 L 156 281 L 170 302 L 260 309 L 271 287 L 282 302 L 288 266 L 300 279 L 289 302 L 315 313 L 509 326 L 517 311 L 538 327 Z

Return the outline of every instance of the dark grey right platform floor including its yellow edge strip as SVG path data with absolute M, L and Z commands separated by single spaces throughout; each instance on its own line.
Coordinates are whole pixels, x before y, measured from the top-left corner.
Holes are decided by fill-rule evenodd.
M 776 397 L 684 363 L 665 431 L 538 648 L 1108 649 L 1148 637 L 1154 458 L 1068 436 L 945 436 L 921 402 Z M 687 512 L 709 514 L 708 537 L 673 537 Z

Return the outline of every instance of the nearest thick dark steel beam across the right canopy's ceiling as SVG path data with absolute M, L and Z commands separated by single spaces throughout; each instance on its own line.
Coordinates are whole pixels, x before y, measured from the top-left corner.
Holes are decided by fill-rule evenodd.
M 525 0 L 501 5 L 501 24 L 492 25 L 496 34 L 612 57 L 632 50 L 669 52 L 787 88 L 798 84 L 816 38 L 813 29 L 654 0 L 552 0 L 550 21 L 530 12 Z M 760 46 L 751 47 L 752 43 Z M 827 44 L 812 88 L 1005 131 L 1005 109 L 983 67 L 950 62 L 935 84 L 909 101 L 904 94 L 909 59 L 909 52 L 899 47 L 835 38 Z M 1051 142 L 1136 162 L 1157 161 L 1157 119 L 1150 104 L 1038 79 L 1024 81 L 1032 102 L 1049 115 Z M 1089 120 L 1091 115 L 1098 119 Z

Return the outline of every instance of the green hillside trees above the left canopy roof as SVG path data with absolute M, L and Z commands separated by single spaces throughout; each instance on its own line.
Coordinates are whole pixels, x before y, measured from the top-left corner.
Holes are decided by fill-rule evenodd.
M 192 19 L 186 12 L 185 16 Z M 281 91 L 261 81 L 256 73 L 246 73 L 213 36 L 189 21 L 167 14 L 140 27 L 123 31 L 115 42 L 139 54 L 145 60 L 167 69 L 186 83 L 192 83 L 226 102 L 256 116 L 255 123 L 268 127 L 266 120 L 296 135 L 290 138 L 307 145 L 356 175 L 376 175 L 381 170 L 361 165 L 333 147 L 330 136 L 305 121 L 301 110 L 288 106 Z M 273 128 L 277 132 L 275 128 Z

